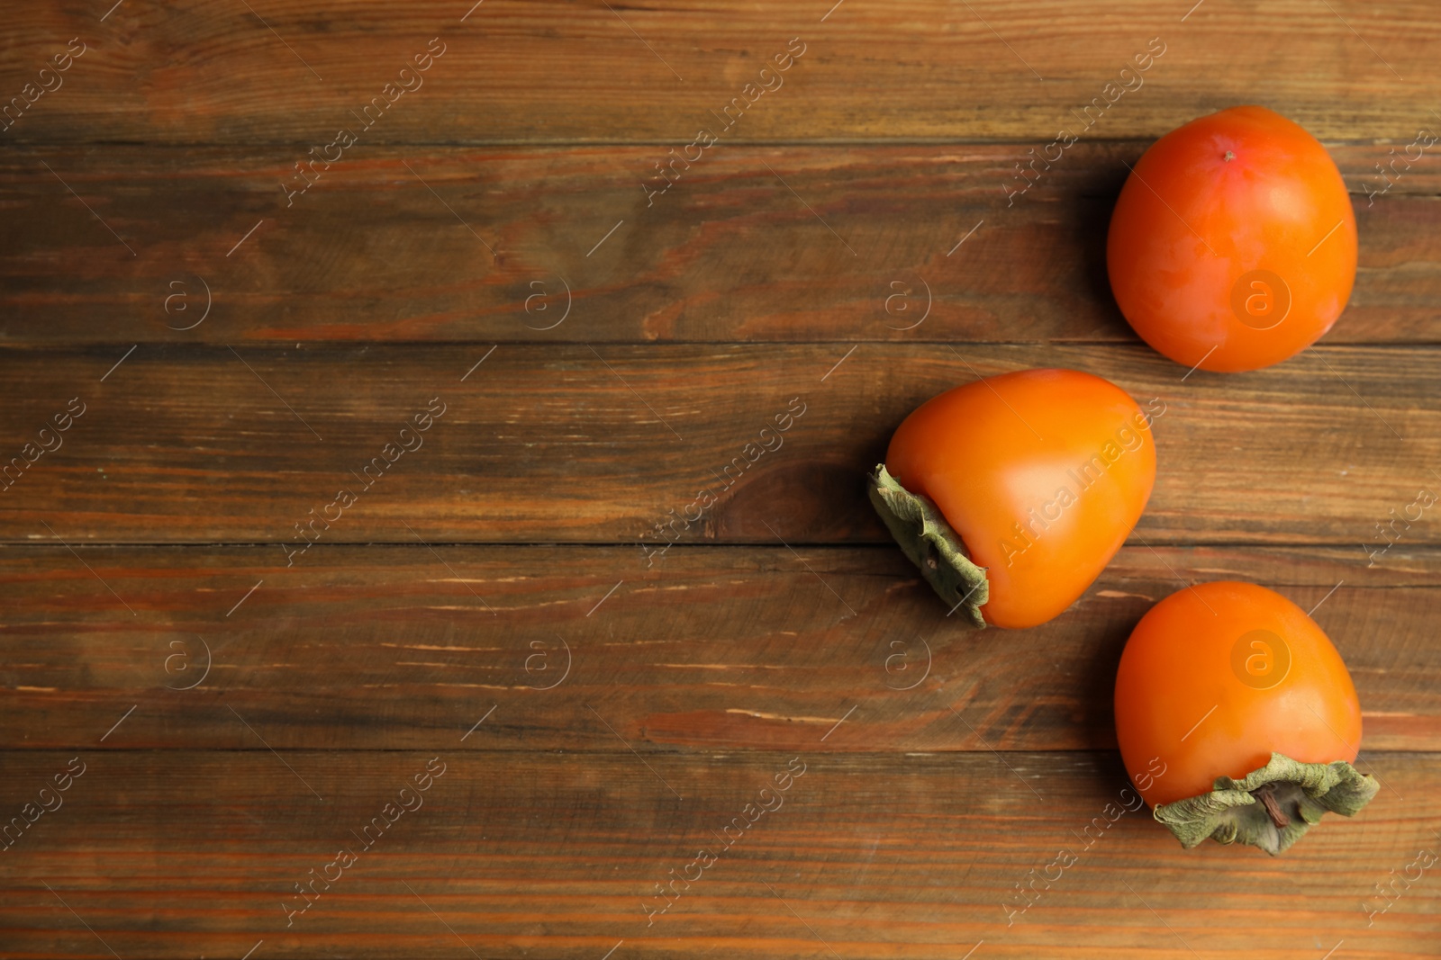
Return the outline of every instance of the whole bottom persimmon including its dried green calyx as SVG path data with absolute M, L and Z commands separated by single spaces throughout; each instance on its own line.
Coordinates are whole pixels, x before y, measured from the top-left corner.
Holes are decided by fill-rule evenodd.
M 1254 583 L 1170 594 L 1141 617 L 1115 674 L 1115 738 L 1157 820 L 1280 853 L 1326 812 L 1376 794 L 1352 767 L 1360 702 L 1301 607 Z

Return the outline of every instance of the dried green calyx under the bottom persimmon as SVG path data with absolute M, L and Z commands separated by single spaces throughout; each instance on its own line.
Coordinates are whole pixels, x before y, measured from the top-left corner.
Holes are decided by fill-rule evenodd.
M 1216 777 L 1210 793 L 1163 803 L 1153 816 L 1182 846 L 1208 836 L 1218 843 L 1249 843 L 1272 856 L 1295 843 L 1326 812 L 1355 816 L 1380 783 L 1344 760 L 1301 763 L 1272 753 L 1241 780 Z

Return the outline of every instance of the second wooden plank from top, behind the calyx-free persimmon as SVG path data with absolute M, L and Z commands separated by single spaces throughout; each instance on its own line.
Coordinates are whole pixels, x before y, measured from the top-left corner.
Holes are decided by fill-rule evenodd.
M 1032 145 L 735 147 L 651 199 L 654 147 L 367 148 L 290 200 L 284 148 L 22 148 L 0 335 L 1136 343 L 1105 229 L 1146 144 L 1081 142 L 1010 200 Z M 1362 248 L 1326 343 L 1441 340 L 1441 163 L 1380 193 L 1391 150 L 1333 147 Z

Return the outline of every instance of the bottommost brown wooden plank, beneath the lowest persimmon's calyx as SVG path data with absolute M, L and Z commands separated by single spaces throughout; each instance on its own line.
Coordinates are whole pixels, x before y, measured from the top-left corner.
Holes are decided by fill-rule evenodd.
M 984 941 L 974 956 L 1282 960 L 1344 941 L 1346 957 L 1435 956 L 1431 871 L 1368 911 L 1385 902 L 1376 884 L 1437 849 L 1437 754 L 1369 754 L 1386 784 L 1370 807 L 1272 861 L 1183 851 L 1121 812 L 1136 800 L 1111 754 L 666 754 L 647 769 L 624 750 L 457 747 L 82 751 L 63 806 L 3 855 L 7 953 L 239 957 L 264 940 L 256 957 L 954 959 Z M 0 754 L 3 809 L 75 756 Z M 444 771 L 401 813 L 432 760 Z M 388 803 L 395 822 L 366 849 Z M 726 849 L 746 805 L 757 819 Z M 327 868 L 340 849 L 353 862 Z M 713 862 L 660 898 L 700 849 Z M 290 917 L 300 882 L 318 897 Z

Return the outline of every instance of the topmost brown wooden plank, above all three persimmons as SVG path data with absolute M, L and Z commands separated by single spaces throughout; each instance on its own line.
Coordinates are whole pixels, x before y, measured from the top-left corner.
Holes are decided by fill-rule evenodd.
M 101 19 L 35 4 L 6 24 L 4 95 L 62 85 L 30 92 L 6 137 L 310 147 L 352 125 L 362 142 L 682 145 L 700 127 L 723 128 L 716 115 L 738 96 L 755 101 L 725 131 L 739 141 L 1045 142 L 1058 128 L 1085 130 L 1092 104 L 1087 132 L 1108 138 L 1156 137 L 1257 101 L 1329 138 L 1409 138 L 1432 122 L 1417 78 L 1441 27 L 1425 0 L 834 6 L 183 0 L 125 3 Z M 86 52 L 62 75 L 40 75 L 71 37 Z M 793 37 L 801 58 L 762 76 Z M 402 76 L 432 39 L 441 58 Z M 1136 58 L 1147 69 L 1123 75 Z M 365 128 L 359 115 L 386 83 L 412 91 L 392 88 L 395 102 Z

